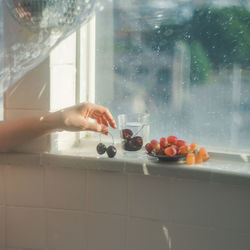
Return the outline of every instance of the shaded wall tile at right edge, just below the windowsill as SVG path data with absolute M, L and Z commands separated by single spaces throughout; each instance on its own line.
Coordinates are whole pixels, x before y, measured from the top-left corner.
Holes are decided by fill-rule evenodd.
M 213 184 L 213 226 L 250 233 L 250 187 Z

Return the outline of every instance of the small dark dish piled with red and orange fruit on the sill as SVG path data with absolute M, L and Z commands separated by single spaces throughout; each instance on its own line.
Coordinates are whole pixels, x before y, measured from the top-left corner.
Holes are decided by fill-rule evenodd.
M 159 161 L 180 161 L 188 165 L 200 164 L 209 159 L 204 147 L 199 148 L 197 143 L 187 144 L 176 136 L 161 137 L 159 141 L 151 140 L 145 145 L 147 154 Z

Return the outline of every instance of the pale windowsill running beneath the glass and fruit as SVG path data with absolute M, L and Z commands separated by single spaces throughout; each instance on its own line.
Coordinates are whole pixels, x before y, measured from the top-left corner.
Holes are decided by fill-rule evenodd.
M 188 166 L 183 163 L 158 162 L 149 158 L 143 150 L 123 152 L 117 147 L 115 158 L 96 153 L 96 143 L 72 148 L 63 152 L 41 154 L 4 153 L 0 164 L 46 165 L 57 167 L 101 170 L 124 174 L 148 176 L 169 176 L 200 181 L 222 182 L 236 185 L 250 185 L 250 156 L 225 153 L 211 153 L 209 161 Z

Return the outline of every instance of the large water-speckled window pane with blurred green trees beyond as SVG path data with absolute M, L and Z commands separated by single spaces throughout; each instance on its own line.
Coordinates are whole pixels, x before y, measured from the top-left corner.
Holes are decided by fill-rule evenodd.
M 96 103 L 150 138 L 250 148 L 250 2 L 116 0 L 96 17 Z

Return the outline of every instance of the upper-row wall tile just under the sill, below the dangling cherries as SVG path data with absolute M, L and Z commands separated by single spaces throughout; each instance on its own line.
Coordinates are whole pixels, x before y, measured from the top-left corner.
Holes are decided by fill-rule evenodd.
M 88 171 L 88 210 L 127 214 L 127 176 Z

